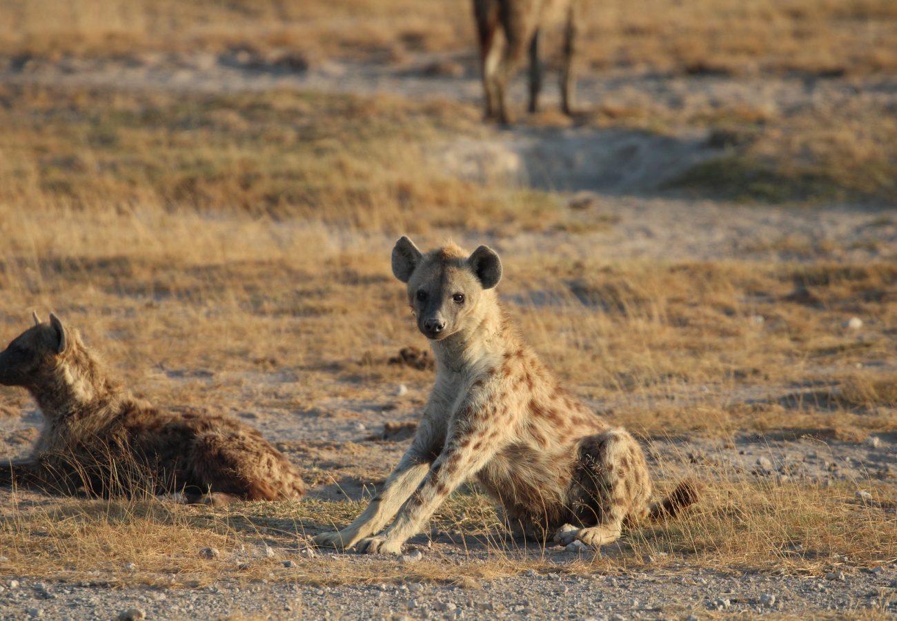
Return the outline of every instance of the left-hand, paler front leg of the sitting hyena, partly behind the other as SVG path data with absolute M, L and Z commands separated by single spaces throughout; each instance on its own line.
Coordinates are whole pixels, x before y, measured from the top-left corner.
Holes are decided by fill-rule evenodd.
M 313 540 L 318 546 L 353 547 L 362 538 L 379 532 L 398 512 L 430 470 L 430 460 L 417 450 L 408 450 L 387 479 L 383 491 L 374 496 L 367 508 L 352 524 L 337 532 L 327 532 Z

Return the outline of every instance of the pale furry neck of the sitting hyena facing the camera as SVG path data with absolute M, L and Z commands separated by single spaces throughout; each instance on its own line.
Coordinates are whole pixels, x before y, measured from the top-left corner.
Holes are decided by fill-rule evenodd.
M 518 350 L 523 343 L 508 313 L 494 302 L 470 328 L 433 342 L 436 362 L 455 372 L 477 370 L 483 364 L 501 360 L 503 354 Z

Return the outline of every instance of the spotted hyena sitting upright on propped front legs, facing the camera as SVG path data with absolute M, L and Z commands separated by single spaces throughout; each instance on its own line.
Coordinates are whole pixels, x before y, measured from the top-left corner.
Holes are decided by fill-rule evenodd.
M 605 544 L 620 537 L 624 520 L 675 514 L 696 500 L 697 486 L 684 483 L 649 506 L 639 443 L 562 389 L 523 344 L 495 294 L 501 261 L 492 249 L 480 246 L 468 257 L 449 243 L 424 255 L 403 237 L 392 268 L 432 340 L 436 385 L 382 493 L 318 544 L 398 553 L 471 477 L 513 532 L 542 539 L 557 532 L 564 544 Z M 578 528 L 561 529 L 567 523 Z

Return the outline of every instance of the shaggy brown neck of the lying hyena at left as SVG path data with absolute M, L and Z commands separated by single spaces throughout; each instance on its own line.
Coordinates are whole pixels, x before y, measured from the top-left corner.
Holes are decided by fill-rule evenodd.
M 89 416 L 120 397 L 118 385 L 109 380 L 100 362 L 83 345 L 74 343 L 50 376 L 30 390 L 50 420 Z

